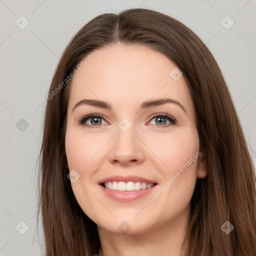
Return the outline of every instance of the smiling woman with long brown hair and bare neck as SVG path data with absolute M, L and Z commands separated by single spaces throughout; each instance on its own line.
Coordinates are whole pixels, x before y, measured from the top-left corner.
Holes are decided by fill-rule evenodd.
M 148 9 L 93 18 L 47 98 L 47 256 L 255 255 L 252 160 L 220 69 L 184 24 Z

